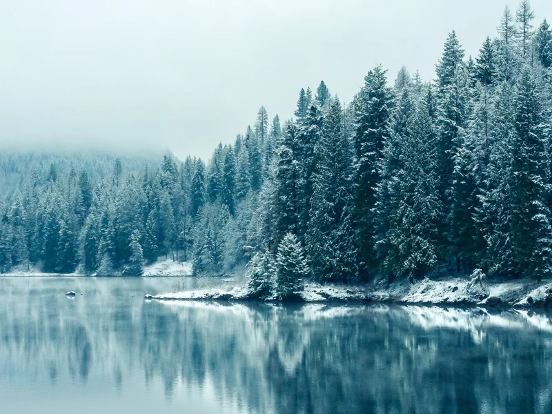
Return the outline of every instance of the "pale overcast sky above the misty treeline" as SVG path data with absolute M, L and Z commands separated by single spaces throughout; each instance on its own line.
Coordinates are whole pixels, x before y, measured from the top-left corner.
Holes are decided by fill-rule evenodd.
M 508 1 L 515 10 L 517 1 Z M 0 143 L 210 157 L 259 106 L 293 114 L 321 79 L 350 101 L 375 63 L 424 80 L 446 34 L 466 55 L 504 0 L 0 0 Z M 552 1 L 533 0 L 535 26 Z M 0 145 L 1 145 L 0 144 Z

